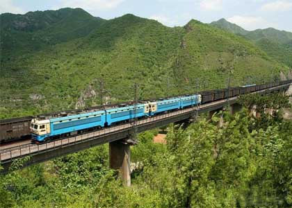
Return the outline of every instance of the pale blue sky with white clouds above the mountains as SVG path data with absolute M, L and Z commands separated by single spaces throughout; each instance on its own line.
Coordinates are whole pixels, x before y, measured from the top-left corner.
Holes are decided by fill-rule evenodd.
M 1 0 L 0 13 L 83 8 L 95 17 L 113 19 L 131 13 L 166 26 L 184 26 L 225 18 L 248 31 L 273 27 L 292 32 L 292 0 Z

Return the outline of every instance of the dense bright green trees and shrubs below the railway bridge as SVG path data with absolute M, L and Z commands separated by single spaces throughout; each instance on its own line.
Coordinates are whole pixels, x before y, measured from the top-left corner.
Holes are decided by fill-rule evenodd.
M 273 98 L 243 104 L 263 109 Z M 277 99 L 274 107 L 291 107 Z M 279 111 L 254 118 L 245 109 L 224 112 L 219 128 L 218 116 L 186 130 L 170 125 L 166 145 L 153 144 L 155 130 L 140 134 L 131 187 L 108 168 L 104 145 L 1 175 L 0 207 L 291 207 L 291 121 Z

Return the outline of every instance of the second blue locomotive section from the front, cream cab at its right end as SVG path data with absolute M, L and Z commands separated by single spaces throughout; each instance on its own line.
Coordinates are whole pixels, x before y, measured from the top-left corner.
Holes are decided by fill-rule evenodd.
M 136 116 L 135 116 L 136 112 Z M 148 116 L 149 105 L 147 103 L 139 103 L 136 105 L 136 110 L 134 105 L 128 105 L 125 107 L 115 107 L 106 110 L 106 124 L 111 125 L 112 123 L 119 123 L 121 121 L 129 121 L 129 119 L 134 119 Z

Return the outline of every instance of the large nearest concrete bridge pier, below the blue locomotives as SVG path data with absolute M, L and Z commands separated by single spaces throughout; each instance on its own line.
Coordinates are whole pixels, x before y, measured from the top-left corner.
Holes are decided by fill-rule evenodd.
M 121 139 L 109 143 L 110 168 L 119 171 L 126 187 L 131 187 L 131 150 L 136 144 L 132 139 Z

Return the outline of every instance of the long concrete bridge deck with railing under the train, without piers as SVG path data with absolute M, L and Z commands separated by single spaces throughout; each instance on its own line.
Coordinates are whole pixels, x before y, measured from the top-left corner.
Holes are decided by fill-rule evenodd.
M 258 92 L 259 94 L 265 94 L 274 92 L 279 89 L 289 87 L 290 84 L 280 85 L 269 89 L 263 89 Z M 236 103 L 238 96 L 229 98 L 229 103 Z M 190 107 L 183 110 L 177 110 L 175 112 L 169 112 L 158 116 L 153 116 L 147 119 L 137 121 L 136 128 L 138 132 L 143 132 L 152 128 L 158 128 L 161 125 L 167 125 L 177 121 L 183 121 L 189 119 L 190 116 L 194 116 L 195 112 L 199 113 L 208 112 L 211 110 L 219 109 L 227 104 L 227 99 L 215 101 L 212 103 L 206 103 L 199 105 L 198 107 Z M 129 137 L 133 130 L 133 123 L 125 123 L 122 125 L 116 125 L 110 128 L 104 128 L 95 132 L 88 132 L 83 135 L 77 135 L 74 137 L 68 137 L 65 139 L 59 139 L 55 141 L 49 141 L 44 144 L 24 144 L 22 146 L 10 146 L 0 150 L 0 161 L 4 167 L 4 171 L 8 171 L 8 166 L 14 159 L 31 156 L 30 161 L 26 164 L 35 164 L 43 162 L 54 157 L 66 155 L 68 153 L 74 153 L 79 150 L 105 144 L 107 142 L 116 141 Z M 15 144 L 17 145 L 17 144 Z

